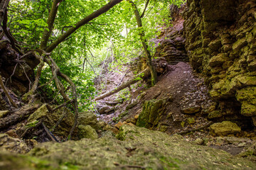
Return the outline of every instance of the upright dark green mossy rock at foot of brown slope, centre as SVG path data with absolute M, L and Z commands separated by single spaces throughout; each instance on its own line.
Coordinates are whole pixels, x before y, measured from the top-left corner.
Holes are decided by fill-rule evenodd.
M 144 128 L 151 128 L 157 125 L 162 113 L 164 113 L 165 103 L 164 99 L 145 101 L 136 125 Z

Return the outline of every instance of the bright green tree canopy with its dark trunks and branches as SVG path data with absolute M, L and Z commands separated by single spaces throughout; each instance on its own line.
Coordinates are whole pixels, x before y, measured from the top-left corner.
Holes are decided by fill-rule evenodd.
M 26 98 L 46 84 L 42 88 L 55 100 L 73 103 L 77 117 L 78 103 L 84 110 L 95 95 L 93 79 L 100 62 L 107 57 L 112 57 L 112 65 L 127 62 L 138 57 L 142 46 L 150 58 L 153 39 L 169 26 L 170 4 L 181 5 L 183 0 L 1 2 L 9 3 L 3 28 L 10 28 L 12 46 L 21 56 L 32 52 L 40 61 Z

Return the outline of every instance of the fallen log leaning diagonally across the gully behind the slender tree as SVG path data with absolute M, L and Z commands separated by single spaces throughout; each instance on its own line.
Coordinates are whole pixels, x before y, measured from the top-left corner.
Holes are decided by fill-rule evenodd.
M 100 96 L 97 96 L 95 98 L 95 101 L 99 101 L 102 98 L 111 96 L 112 94 L 116 94 L 118 91 L 121 91 L 122 89 L 127 88 L 128 86 L 131 86 L 134 83 L 137 83 L 137 81 L 141 80 L 141 78 L 146 78 L 150 76 L 149 69 L 144 69 L 144 71 L 140 72 L 136 76 L 133 77 L 133 79 L 127 81 L 124 84 L 121 84 L 120 86 L 115 87 L 114 89 L 111 89 L 110 91 L 107 91 L 105 94 L 102 94 Z

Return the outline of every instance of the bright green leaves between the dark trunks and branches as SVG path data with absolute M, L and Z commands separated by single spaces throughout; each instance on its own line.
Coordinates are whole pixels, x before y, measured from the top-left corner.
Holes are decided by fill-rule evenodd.
M 61 1 L 48 45 L 65 33 L 70 26 L 74 26 L 106 2 L 100 0 Z M 146 1 L 139 0 L 134 3 L 139 13 L 142 13 Z M 153 39 L 160 34 L 162 28 L 169 26 L 169 5 L 181 5 L 182 3 L 182 0 L 149 1 L 149 6 L 142 18 L 144 27 L 137 28 L 131 4 L 122 1 L 107 13 L 103 13 L 82 26 L 53 50 L 51 57 L 58 64 L 61 72 L 75 82 L 80 110 L 92 107 L 92 98 L 95 96 L 93 81 L 102 72 L 104 68 L 102 63 L 109 67 L 122 69 L 120 66 L 138 57 L 142 48 L 139 42 L 139 33 L 142 33 L 142 29 L 145 33 L 144 38 L 149 40 L 149 50 L 153 53 L 155 50 Z M 46 22 L 51 4 L 51 0 L 10 2 L 8 25 L 16 40 L 21 42 L 23 49 L 31 50 L 39 47 L 43 30 L 48 26 Z M 43 68 L 40 84 L 46 84 L 50 77 L 52 77 L 51 70 L 46 66 Z M 137 77 L 137 79 L 142 78 Z M 68 84 L 61 79 L 60 81 L 65 89 L 68 89 Z M 55 101 L 63 102 L 54 81 L 43 87 L 43 91 L 46 91 L 48 96 L 57 96 Z M 70 91 L 68 95 L 71 96 Z M 120 97 L 127 99 L 128 95 L 128 92 L 123 92 Z

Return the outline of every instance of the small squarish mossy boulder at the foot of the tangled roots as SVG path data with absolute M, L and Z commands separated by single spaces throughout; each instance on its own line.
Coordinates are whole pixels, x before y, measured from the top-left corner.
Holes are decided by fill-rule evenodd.
M 93 129 L 90 125 L 78 125 L 78 137 L 89 138 L 92 140 L 97 139 L 99 136 L 95 129 Z

